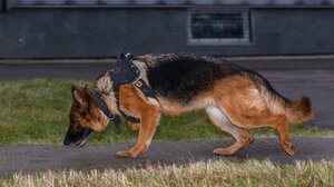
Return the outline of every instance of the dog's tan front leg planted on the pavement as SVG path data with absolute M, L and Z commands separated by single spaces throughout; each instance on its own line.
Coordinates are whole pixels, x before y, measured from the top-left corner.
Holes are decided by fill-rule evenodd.
M 148 149 L 151 138 L 156 131 L 157 124 L 160 119 L 160 111 L 158 107 L 149 106 L 140 114 L 139 136 L 135 147 L 127 151 L 119 151 L 118 157 L 136 157 L 138 154 Z

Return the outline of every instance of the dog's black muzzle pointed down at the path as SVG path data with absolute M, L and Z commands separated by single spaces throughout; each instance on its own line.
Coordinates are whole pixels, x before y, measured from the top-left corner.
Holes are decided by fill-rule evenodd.
M 63 145 L 65 146 L 70 146 L 70 147 L 82 147 L 85 146 L 88 136 L 90 135 L 92 130 L 89 128 L 85 128 L 80 132 L 67 132 L 66 137 L 63 139 Z

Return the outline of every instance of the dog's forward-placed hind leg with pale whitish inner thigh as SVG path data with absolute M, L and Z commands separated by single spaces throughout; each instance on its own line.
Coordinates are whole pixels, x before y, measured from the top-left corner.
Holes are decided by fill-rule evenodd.
M 253 142 L 253 136 L 245 129 L 233 125 L 220 109 L 210 106 L 206 108 L 206 112 L 215 126 L 217 126 L 220 130 L 233 135 L 236 139 L 236 142 L 234 145 L 227 148 L 215 149 L 214 154 L 233 155 L 239 149 L 246 148 Z

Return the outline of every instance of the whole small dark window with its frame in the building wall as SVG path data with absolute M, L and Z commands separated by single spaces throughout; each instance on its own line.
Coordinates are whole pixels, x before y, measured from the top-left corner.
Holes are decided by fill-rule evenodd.
M 195 45 L 237 45 L 249 42 L 247 11 L 189 12 L 188 39 Z

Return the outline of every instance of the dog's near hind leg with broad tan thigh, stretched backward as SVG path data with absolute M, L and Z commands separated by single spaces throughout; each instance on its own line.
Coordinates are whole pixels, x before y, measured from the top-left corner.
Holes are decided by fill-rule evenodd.
M 279 134 L 283 149 L 294 155 L 285 115 L 268 110 L 268 105 L 275 104 L 268 104 L 253 81 L 238 76 L 224 79 L 217 82 L 213 97 L 232 124 L 244 129 L 273 127 Z

